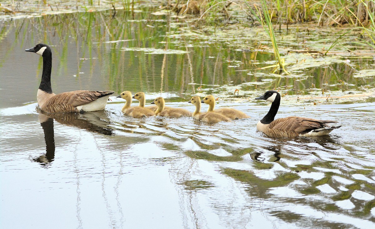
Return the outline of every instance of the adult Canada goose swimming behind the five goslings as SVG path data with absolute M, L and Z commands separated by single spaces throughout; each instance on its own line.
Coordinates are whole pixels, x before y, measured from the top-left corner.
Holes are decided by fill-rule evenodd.
M 337 123 L 330 120 L 317 120 L 304 117 L 290 116 L 275 119 L 280 106 L 280 94 L 277 91 L 267 91 L 256 100 L 267 100 L 272 103 L 269 112 L 257 124 L 257 130 L 272 138 L 309 137 L 329 134 L 340 126 L 330 127 L 326 123 Z

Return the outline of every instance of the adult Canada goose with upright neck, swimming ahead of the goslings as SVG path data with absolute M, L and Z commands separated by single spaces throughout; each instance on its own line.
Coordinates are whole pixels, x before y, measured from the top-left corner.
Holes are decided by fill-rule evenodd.
M 43 57 L 42 81 L 36 99 L 40 109 L 48 113 L 103 110 L 114 91 L 70 91 L 55 95 L 51 88 L 52 52 L 45 44 L 37 44 L 26 52 Z

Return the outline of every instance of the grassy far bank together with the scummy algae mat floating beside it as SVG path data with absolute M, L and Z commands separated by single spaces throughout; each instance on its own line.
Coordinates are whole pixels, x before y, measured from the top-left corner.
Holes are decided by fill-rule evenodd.
M 352 59 L 374 59 L 375 0 L 6 0 L 0 5 L 0 21 L 101 10 L 108 10 L 107 13 L 112 16 L 109 16 L 108 20 L 111 20 L 122 9 L 129 15 L 128 18 L 132 18 L 132 15 L 134 18 L 134 13 L 141 10 L 153 15 L 170 15 L 168 20 L 178 27 L 179 32 L 167 34 L 168 38 L 213 40 L 225 42 L 233 47 L 233 50 L 252 52 L 253 59 L 246 61 L 254 67 L 239 71 L 249 71 L 254 77 L 261 76 L 261 73 L 253 74 L 253 70 L 269 71 L 272 73 L 269 75 L 277 79 L 275 89 L 279 88 L 281 77 L 302 79 L 302 75 L 305 77 L 302 73 L 304 70 L 323 68 L 330 64 L 344 63 L 346 67 L 353 68 L 356 75 L 368 79 L 374 78 L 375 75 L 372 67 L 354 70 L 351 63 Z M 327 37 L 327 34 L 330 36 Z M 184 51 L 187 52 L 187 48 Z M 264 53 L 272 55 L 269 61 L 260 63 L 257 55 Z M 258 64 L 261 66 L 257 67 Z M 336 68 L 333 70 L 337 71 Z M 326 87 L 330 85 L 328 81 L 322 80 L 326 82 Z M 338 86 L 347 84 L 347 80 L 341 78 L 335 83 Z M 322 101 L 327 102 L 333 100 L 332 98 L 338 98 L 342 103 L 354 100 L 373 101 L 373 80 L 362 84 L 366 86 L 351 94 L 344 92 L 344 89 L 340 93 L 335 91 L 331 94 L 324 85 L 318 89 L 313 83 L 312 89 L 316 90 L 315 93 L 310 92 L 309 96 L 290 99 L 315 101 L 321 97 Z M 245 93 L 246 87 L 221 85 L 219 88 L 224 88 L 224 91 L 240 89 Z M 283 91 L 286 91 L 287 95 L 288 90 Z M 233 95 L 233 92 L 231 94 Z M 225 95 L 220 93 L 220 97 Z

